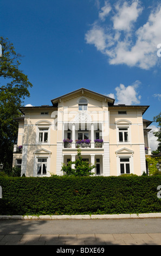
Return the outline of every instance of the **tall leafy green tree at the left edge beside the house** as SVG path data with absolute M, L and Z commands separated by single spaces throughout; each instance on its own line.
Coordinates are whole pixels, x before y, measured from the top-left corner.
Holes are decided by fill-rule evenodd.
M 12 151 L 17 143 L 18 124 L 14 118 L 20 117 L 19 111 L 25 97 L 29 97 L 28 88 L 33 85 L 19 69 L 21 54 L 16 53 L 8 38 L 0 38 L 2 57 L 0 57 L 0 161 L 4 168 L 12 166 Z

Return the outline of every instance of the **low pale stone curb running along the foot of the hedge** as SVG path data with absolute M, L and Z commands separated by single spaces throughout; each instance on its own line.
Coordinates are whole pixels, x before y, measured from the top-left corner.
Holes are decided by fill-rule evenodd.
M 2 215 L 0 220 L 94 220 L 94 219 L 121 219 L 121 218 L 161 218 L 161 212 L 151 214 L 105 214 L 105 215 Z

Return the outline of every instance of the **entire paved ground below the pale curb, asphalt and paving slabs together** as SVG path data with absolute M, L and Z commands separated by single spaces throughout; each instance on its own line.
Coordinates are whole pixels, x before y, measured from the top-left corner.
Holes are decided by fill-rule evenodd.
M 2 219 L 0 245 L 161 245 L 161 218 Z

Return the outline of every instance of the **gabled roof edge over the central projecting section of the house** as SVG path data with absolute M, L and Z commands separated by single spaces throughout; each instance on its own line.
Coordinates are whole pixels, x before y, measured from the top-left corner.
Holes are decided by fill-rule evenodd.
M 93 94 L 95 96 L 100 96 L 100 97 L 102 97 L 102 99 L 105 99 L 107 102 L 109 102 L 110 105 L 113 105 L 114 101 L 115 101 L 114 99 L 112 99 L 111 97 L 108 97 L 106 95 L 95 93 L 92 90 L 88 90 L 86 88 L 80 88 L 78 90 L 74 90 L 71 93 L 67 93 L 67 94 L 64 94 L 64 95 L 62 95 L 60 97 L 56 97 L 55 99 L 51 100 L 51 102 L 53 103 L 53 105 L 55 105 L 55 103 L 58 103 L 61 99 L 65 98 L 67 96 L 70 96 L 72 94 L 78 93 L 78 92 L 82 92 L 82 95 L 84 94 L 84 92 L 88 92 L 88 93 L 91 93 L 91 94 Z

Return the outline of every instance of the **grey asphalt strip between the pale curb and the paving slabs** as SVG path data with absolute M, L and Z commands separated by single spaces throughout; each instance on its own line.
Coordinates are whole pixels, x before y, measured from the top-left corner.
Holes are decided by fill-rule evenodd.
M 126 233 L 161 233 L 161 219 L 0 220 L 0 235 Z

